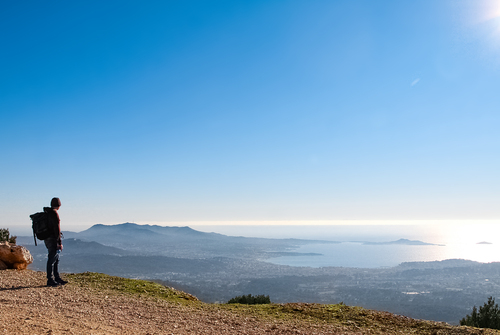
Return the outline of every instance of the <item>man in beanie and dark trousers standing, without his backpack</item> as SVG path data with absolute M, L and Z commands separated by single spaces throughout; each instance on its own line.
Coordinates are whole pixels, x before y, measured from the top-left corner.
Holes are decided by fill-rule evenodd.
M 59 252 L 62 250 L 61 241 L 61 225 L 59 214 L 57 211 L 61 207 L 61 200 L 59 198 L 52 198 L 50 207 L 44 207 L 43 211 L 47 213 L 49 219 L 49 229 L 51 234 L 44 242 L 49 252 L 47 259 L 47 286 L 64 285 L 68 282 L 59 276 Z M 52 277 L 54 275 L 54 277 Z

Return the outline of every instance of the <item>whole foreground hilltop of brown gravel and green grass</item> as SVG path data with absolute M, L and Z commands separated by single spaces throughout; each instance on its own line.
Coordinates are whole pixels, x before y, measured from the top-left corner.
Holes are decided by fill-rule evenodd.
M 7 334 L 500 334 L 343 304 L 207 304 L 157 283 L 98 273 L 0 272 L 0 329 Z

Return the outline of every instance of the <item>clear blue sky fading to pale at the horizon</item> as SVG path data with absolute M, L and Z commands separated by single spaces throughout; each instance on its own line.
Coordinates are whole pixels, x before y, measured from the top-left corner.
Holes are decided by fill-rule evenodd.
M 0 79 L 1 227 L 500 220 L 500 1 L 2 1 Z

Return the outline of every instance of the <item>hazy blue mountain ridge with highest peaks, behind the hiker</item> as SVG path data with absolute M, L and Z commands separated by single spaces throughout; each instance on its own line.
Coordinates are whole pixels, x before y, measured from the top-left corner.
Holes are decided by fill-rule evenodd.
M 66 237 L 94 241 L 105 246 L 134 252 L 179 258 L 237 257 L 269 258 L 276 252 L 288 252 L 304 244 L 335 243 L 298 239 L 233 237 L 204 233 L 189 227 L 162 227 L 122 223 L 97 224 L 80 233 L 64 232 Z

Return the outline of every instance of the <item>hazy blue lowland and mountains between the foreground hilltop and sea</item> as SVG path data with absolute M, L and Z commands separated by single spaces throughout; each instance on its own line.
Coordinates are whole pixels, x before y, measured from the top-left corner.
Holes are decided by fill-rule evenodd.
M 312 261 L 317 254 L 300 253 L 297 248 L 324 241 L 232 237 L 189 227 L 132 223 L 95 225 L 80 233 L 67 232 L 65 237 L 61 253 L 61 270 L 65 272 L 102 272 L 154 280 L 207 303 L 264 294 L 279 303 L 343 301 L 415 319 L 457 324 L 472 306 L 482 305 L 489 296 L 497 297 L 500 291 L 500 263 L 446 260 L 365 269 L 299 267 L 267 261 L 286 255 Z M 18 237 L 18 243 L 34 257 L 29 268 L 44 270 L 47 250 L 43 244 L 35 247 L 32 236 Z M 338 246 L 336 252 L 342 257 L 342 244 Z

